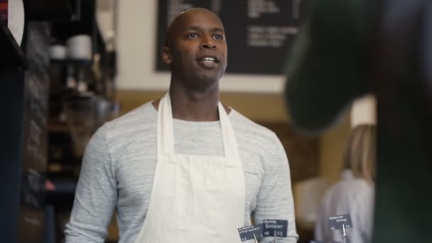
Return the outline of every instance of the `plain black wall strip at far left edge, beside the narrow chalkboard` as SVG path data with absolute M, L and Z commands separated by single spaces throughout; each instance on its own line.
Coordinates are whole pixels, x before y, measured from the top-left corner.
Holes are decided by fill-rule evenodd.
M 0 71 L 0 235 L 16 242 L 22 168 L 24 73 Z

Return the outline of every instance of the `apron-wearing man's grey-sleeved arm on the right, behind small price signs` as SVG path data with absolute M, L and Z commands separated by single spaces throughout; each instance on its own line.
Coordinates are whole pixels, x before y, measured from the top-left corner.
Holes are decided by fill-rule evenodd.
M 260 224 L 263 220 L 288 220 L 287 237 L 278 238 L 278 242 L 294 243 L 297 242 L 298 234 L 288 158 L 281 142 L 274 136 L 274 146 L 269 151 L 269 161 L 265 162 L 265 174 L 257 196 L 255 224 Z M 261 243 L 272 240 L 273 237 L 264 237 Z

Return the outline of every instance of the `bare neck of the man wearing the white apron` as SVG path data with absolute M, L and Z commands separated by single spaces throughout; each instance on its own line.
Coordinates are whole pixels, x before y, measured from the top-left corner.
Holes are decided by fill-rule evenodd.
M 203 91 L 191 91 L 180 85 L 171 83 L 171 107 L 173 118 L 185 121 L 217 121 L 219 113 L 219 85 Z

